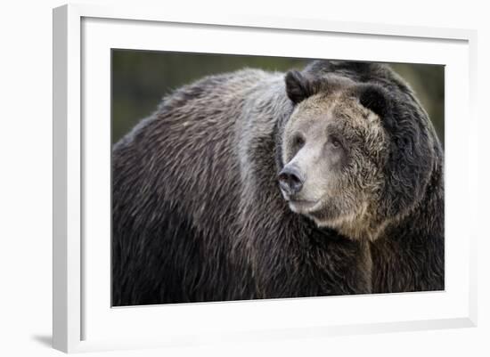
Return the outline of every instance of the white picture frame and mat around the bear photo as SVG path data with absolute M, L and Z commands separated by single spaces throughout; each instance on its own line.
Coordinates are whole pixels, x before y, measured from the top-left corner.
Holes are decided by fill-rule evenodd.
M 233 42 L 226 40 L 230 33 Z M 178 41 L 162 41 L 175 38 L 158 36 L 165 34 Z M 53 347 L 71 353 L 476 326 L 477 225 L 469 208 L 477 207 L 476 38 L 464 29 L 190 17 L 138 6 L 54 9 Z M 330 54 L 316 44 L 331 45 Z M 376 50 L 363 51 L 367 46 Z M 110 308 L 112 47 L 445 64 L 445 291 Z M 457 118 L 468 119 L 461 126 Z

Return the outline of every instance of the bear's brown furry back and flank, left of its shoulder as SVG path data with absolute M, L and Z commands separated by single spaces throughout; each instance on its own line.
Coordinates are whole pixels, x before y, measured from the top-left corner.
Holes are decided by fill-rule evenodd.
M 244 69 L 185 85 L 114 146 L 114 304 L 252 294 L 230 257 L 241 199 L 236 132 L 251 93 L 275 77 Z

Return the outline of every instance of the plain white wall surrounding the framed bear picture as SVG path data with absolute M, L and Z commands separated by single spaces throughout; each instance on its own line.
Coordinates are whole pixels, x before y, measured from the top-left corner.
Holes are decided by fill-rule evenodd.
M 129 1 L 125 1 L 130 3 Z M 122 1 L 90 1 L 114 4 Z M 328 337 L 260 345 L 213 345 L 180 350 L 146 350 L 95 355 L 490 355 L 490 272 L 487 209 L 490 195 L 486 110 L 490 79 L 490 27 L 486 2 L 466 0 L 296 2 L 135 2 L 189 12 L 261 13 L 387 24 L 478 29 L 479 222 L 478 328 L 371 336 Z M 55 0 L 3 2 L 0 9 L 0 354 L 58 355 L 51 349 L 52 259 L 52 8 Z M 461 118 L 464 120 L 464 118 Z M 488 139 L 487 139 L 488 138 Z

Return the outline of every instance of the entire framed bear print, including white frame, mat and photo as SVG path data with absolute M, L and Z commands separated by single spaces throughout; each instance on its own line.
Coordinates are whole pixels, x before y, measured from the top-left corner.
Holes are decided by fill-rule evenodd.
M 475 326 L 475 41 L 54 9 L 54 347 Z

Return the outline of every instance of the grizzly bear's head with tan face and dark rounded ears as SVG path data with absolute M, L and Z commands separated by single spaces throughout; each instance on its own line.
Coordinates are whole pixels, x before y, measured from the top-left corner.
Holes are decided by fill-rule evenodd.
M 408 87 L 357 79 L 286 75 L 294 109 L 282 128 L 278 179 L 293 212 L 352 239 L 376 239 L 423 199 L 435 132 Z

